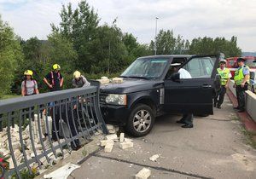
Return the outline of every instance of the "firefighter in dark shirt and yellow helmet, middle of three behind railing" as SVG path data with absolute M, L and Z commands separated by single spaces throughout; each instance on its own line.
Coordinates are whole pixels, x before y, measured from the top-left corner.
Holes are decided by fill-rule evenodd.
M 61 90 L 63 86 L 63 77 L 61 75 L 61 66 L 58 64 L 55 64 L 52 66 L 53 71 L 49 72 L 45 77 L 44 77 L 44 83 L 47 84 L 49 87 L 50 91 L 56 91 L 56 90 Z M 49 83 L 49 81 L 50 83 Z

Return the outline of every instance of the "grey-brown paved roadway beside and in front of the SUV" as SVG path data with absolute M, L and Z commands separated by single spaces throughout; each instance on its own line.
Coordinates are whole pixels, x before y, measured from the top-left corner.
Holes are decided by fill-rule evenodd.
M 256 150 L 246 144 L 230 101 L 214 115 L 195 117 L 193 129 L 176 124 L 180 116 L 157 118 L 148 136 L 134 138 L 134 147 L 99 151 L 68 178 L 134 178 L 143 167 L 150 178 L 256 178 Z M 156 162 L 148 158 L 160 154 Z

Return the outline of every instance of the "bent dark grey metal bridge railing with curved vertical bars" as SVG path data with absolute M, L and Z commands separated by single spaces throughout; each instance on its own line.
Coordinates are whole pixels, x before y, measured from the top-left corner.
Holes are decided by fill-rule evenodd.
M 0 152 L 9 157 L 4 178 L 64 156 L 96 132 L 108 133 L 97 86 L 0 101 Z

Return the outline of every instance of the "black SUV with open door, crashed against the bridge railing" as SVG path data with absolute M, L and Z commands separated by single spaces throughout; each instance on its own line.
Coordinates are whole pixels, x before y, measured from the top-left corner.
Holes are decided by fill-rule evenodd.
M 120 76 L 123 83 L 101 85 L 103 118 L 125 126 L 133 136 L 145 136 L 162 113 L 212 114 L 212 97 L 220 86 L 218 61 L 218 55 L 140 57 Z M 173 63 L 192 78 L 179 78 Z

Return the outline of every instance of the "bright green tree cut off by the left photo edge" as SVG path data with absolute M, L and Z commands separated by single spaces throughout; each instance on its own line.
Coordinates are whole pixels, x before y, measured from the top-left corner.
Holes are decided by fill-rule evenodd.
M 23 61 L 19 39 L 0 16 L 0 98 L 10 91 L 18 61 Z

